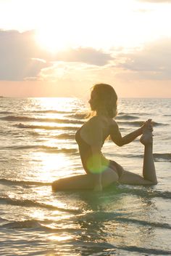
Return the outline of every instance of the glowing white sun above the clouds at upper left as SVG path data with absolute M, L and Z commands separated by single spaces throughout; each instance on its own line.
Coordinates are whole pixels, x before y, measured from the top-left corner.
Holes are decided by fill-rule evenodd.
M 36 42 L 39 47 L 48 52 L 59 52 L 71 47 L 71 42 L 64 30 L 57 28 L 43 28 L 36 31 Z

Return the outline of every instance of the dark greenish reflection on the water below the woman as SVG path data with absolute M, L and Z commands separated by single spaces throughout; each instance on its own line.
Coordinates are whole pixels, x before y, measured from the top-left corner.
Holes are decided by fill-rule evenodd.
M 140 249 L 144 243 L 146 247 L 154 244 L 157 224 L 152 220 L 157 209 L 150 196 L 152 189 L 149 198 L 148 191 L 143 195 L 143 189 L 135 189 L 135 193 L 133 188 L 130 188 L 131 193 L 128 188 L 127 191 L 122 193 L 120 188 L 114 188 L 104 193 L 81 191 L 65 194 L 70 207 L 77 205 L 83 209 L 82 214 L 69 220 L 70 228 L 73 228 L 72 239 L 76 237 L 75 252 L 80 255 L 99 252 L 108 255 L 107 249 L 111 253 L 112 250 L 127 247 Z M 58 199 L 62 196 L 60 193 Z

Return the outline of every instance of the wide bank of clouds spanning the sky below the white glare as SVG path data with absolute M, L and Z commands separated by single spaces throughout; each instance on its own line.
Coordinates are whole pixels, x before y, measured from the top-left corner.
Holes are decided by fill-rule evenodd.
M 122 47 L 110 52 L 78 47 L 52 55 L 38 47 L 34 31 L 0 31 L 0 80 L 100 81 L 103 77 L 170 80 L 171 38 L 129 53 Z

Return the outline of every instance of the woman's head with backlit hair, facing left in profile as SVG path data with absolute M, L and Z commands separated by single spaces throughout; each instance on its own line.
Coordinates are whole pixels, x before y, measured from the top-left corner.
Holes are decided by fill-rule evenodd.
M 117 116 L 117 94 L 109 84 L 95 84 L 91 90 L 91 111 L 111 118 Z

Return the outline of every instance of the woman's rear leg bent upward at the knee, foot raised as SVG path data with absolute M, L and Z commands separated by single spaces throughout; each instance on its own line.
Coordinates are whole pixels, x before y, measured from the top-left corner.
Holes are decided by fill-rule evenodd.
M 125 171 L 120 177 L 119 183 L 132 185 L 154 185 L 157 184 L 156 169 L 153 159 L 153 137 L 149 129 L 145 129 L 141 136 L 141 143 L 145 146 L 143 156 L 143 177 L 133 172 Z

